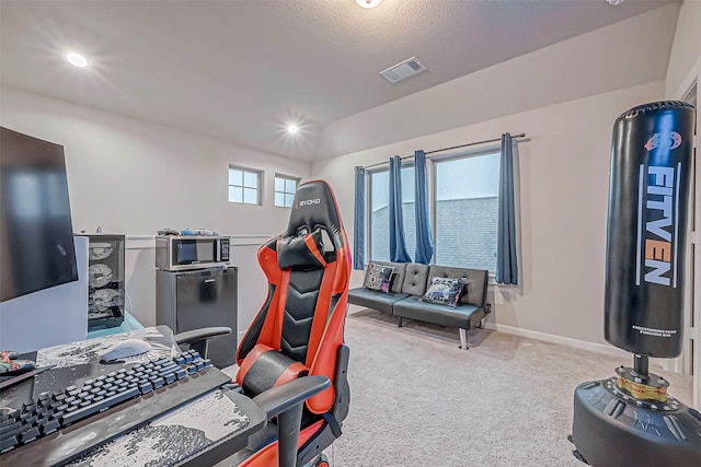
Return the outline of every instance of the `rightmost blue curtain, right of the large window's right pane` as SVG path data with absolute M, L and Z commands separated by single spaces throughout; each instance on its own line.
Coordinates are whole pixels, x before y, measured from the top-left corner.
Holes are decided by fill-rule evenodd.
M 502 135 L 499 203 L 496 241 L 497 283 L 518 283 L 516 258 L 516 206 L 514 203 L 514 143 L 510 133 Z

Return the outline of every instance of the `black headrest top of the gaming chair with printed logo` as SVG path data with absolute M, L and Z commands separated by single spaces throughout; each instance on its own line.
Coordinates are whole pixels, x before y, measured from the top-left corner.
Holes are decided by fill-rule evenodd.
M 285 236 L 309 234 L 319 227 L 329 234 L 333 249 L 338 250 L 344 246 L 333 191 L 326 182 L 312 180 L 297 188 Z

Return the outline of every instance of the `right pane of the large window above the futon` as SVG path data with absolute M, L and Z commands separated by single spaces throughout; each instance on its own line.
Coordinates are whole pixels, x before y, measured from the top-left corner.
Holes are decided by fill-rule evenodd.
M 496 269 L 499 155 L 436 164 L 436 264 Z

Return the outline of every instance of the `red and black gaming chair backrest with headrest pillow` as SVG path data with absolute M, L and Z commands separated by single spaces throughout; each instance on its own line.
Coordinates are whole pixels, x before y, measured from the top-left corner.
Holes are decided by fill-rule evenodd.
M 329 184 L 300 185 L 287 229 L 258 249 L 268 296 L 239 346 L 239 364 L 261 343 L 306 365 L 309 375 L 334 380 L 352 267 L 347 243 Z M 325 412 L 334 397 L 332 385 L 307 407 Z

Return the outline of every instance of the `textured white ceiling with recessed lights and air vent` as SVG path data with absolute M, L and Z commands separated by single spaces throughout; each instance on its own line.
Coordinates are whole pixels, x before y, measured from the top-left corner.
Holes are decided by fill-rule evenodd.
M 1 79 L 311 161 L 336 155 L 320 142 L 343 119 L 667 3 L 3 0 Z M 69 49 L 91 66 L 68 66 Z M 380 77 L 412 56 L 428 71 L 398 84 Z M 289 122 L 299 135 L 285 133 Z

